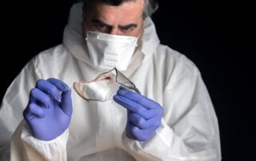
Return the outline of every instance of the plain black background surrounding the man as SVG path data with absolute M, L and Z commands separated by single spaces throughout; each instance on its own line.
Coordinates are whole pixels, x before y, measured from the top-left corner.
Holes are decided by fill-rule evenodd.
M 1 100 L 31 57 L 62 42 L 73 2 L 2 4 Z M 253 160 L 256 150 L 253 11 L 246 1 L 166 0 L 153 15 L 162 44 L 185 54 L 202 73 L 218 116 L 222 160 Z

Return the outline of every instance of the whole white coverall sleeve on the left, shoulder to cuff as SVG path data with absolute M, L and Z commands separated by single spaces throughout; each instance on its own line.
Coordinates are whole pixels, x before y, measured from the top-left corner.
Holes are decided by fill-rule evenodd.
M 18 74 L 2 100 L 0 108 L 0 160 L 66 160 L 68 130 L 51 141 L 35 139 L 22 112 L 29 100 L 31 88 L 43 76 L 34 57 Z M 44 66 L 44 65 L 42 65 Z M 17 128 L 18 127 L 18 128 Z

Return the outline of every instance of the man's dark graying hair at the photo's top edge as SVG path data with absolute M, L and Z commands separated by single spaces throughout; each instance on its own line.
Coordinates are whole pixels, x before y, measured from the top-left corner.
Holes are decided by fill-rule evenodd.
M 110 6 L 119 6 L 124 2 L 131 2 L 136 0 L 82 0 L 83 11 L 85 11 L 88 6 L 91 6 L 94 2 L 103 2 Z M 144 0 L 142 18 L 150 17 L 154 12 L 158 10 L 157 0 Z

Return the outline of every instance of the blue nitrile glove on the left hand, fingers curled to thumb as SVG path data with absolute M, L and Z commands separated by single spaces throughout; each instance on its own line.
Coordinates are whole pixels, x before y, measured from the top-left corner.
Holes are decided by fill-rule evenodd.
M 72 115 L 71 90 L 54 78 L 39 80 L 30 91 L 30 100 L 23 112 L 32 135 L 51 140 L 62 135 Z

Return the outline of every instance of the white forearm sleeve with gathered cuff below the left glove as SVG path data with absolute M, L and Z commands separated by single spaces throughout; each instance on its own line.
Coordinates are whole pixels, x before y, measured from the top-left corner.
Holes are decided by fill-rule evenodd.
M 56 139 L 43 141 L 33 137 L 26 121 L 23 120 L 11 139 L 11 161 L 58 160 L 66 161 L 68 129 Z

